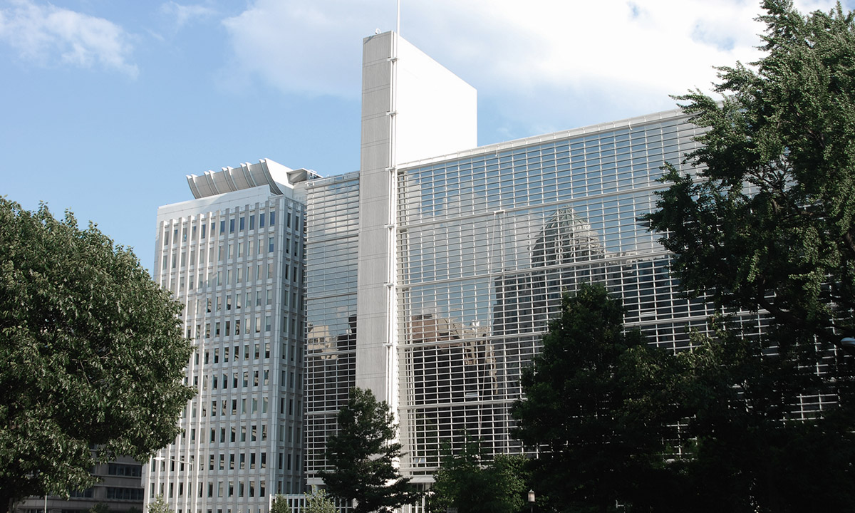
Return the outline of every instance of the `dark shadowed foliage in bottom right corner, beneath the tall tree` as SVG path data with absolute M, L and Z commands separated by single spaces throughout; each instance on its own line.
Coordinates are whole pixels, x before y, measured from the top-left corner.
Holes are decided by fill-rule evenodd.
M 855 437 L 846 410 L 790 420 L 799 393 L 817 375 L 764 354 L 757 340 L 721 323 L 694 342 L 698 347 L 681 355 L 687 372 L 680 398 L 694 414 L 687 425 L 693 444 L 685 447 L 688 507 L 850 510 Z

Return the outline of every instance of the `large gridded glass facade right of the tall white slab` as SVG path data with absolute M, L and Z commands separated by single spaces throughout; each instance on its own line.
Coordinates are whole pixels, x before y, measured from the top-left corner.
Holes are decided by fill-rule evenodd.
M 698 129 L 666 112 L 399 167 L 398 413 L 407 475 L 464 433 L 516 452 L 510 404 L 562 292 L 604 283 L 628 326 L 671 349 L 711 310 L 681 298 L 638 220 Z M 429 478 L 428 478 L 429 479 Z

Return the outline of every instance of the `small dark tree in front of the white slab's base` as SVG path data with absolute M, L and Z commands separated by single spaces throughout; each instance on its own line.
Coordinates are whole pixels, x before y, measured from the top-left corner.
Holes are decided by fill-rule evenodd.
M 392 511 L 421 497 L 395 467 L 401 445 L 392 441 L 398 425 L 386 401 L 377 401 L 370 390 L 351 388 L 338 424 L 338 432 L 327 439 L 333 470 L 318 473 L 330 494 L 357 500 L 354 513 Z

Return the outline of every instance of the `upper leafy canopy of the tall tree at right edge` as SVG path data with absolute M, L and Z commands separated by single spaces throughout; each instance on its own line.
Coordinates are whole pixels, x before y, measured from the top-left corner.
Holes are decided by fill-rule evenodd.
M 722 102 L 678 97 L 706 132 L 646 218 L 694 294 L 835 343 L 855 308 L 855 26 L 840 5 L 766 0 L 765 56 L 719 68 Z

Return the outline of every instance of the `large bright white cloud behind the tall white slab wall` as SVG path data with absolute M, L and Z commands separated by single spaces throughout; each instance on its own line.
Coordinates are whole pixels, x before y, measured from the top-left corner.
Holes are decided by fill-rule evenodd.
M 404 38 L 506 117 L 538 119 L 540 128 L 671 109 L 669 94 L 710 89 L 713 66 L 756 60 L 763 30 L 754 20 L 758 2 L 745 0 L 402 4 Z M 827 11 L 834 2 L 796 5 Z M 357 97 L 359 42 L 374 28 L 394 28 L 394 7 L 380 0 L 257 0 L 224 23 L 239 72 L 286 92 Z

